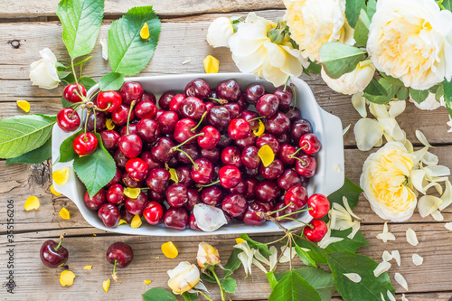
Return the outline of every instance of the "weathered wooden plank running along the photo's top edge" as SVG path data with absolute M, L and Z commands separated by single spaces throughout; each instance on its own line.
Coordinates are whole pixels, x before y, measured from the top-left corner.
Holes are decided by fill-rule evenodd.
M 5 0 L 0 18 L 18 19 L 21 17 L 54 16 L 58 2 L 58 0 Z M 142 5 L 153 5 L 155 12 L 161 17 L 284 8 L 282 1 L 272 0 L 132 0 L 127 2 L 115 0 L 105 2 L 105 15 L 124 14 L 131 7 Z

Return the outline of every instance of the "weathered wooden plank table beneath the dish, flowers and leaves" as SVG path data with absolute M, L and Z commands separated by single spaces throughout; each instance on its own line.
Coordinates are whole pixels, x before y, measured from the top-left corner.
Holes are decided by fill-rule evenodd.
M 61 24 L 54 14 L 58 0 L 3 0 L 0 9 L 0 118 L 23 114 L 17 108 L 15 100 L 30 101 L 31 113 L 56 114 L 61 109 L 62 88 L 45 90 L 32 87 L 28 77 L 32 61 L 40 59 L 38 52 L 49 47 L 59 59 L 68 59 L 61 42 Z M 212 49 L 205 42 L 205 34 L 213 18 L 224 15 L 241 15 L 250 11 L 271 19 L 284 14 L 282 1 L 272 0 L 129 0 L 110 1 L 105 7 L 106 20 L 102 25 L 100 37 L 107 36 L 109 24 L 118 15 L 127 12 L 134 5 L 154 4 L 155 11 L 162 19 L 160 42 L 151 63 L 142 72 L 143 75 L 162 73 L 202 72 L 202 60 L 212 54 L 221 61 L 221 72 L 238 71 L 231 53 L 227 49 Z M 103 61 L 98 44 L 92 53 L 93 59 L 86 64 L 84 74 L 99 79 L 109 70 L 108 62 Z M 190 63 L 182 64 L 183 61 Z M 353 109 L 349 96 L 334 93 L 318 77 L 306 80 L 315 93 L 319 104 L 334 113 L 346 127 L 359 119 Z M 428 140 L 438 147 L 432 152 L 439 156 L 440 164 L 452 167 L 452 134 L 447 133 L 447 111 L 439 108 L 435 111 L 421 111 L 412 104 L 398 118 L 400 126 L 414 143 L 415 129 L 421 129 Z M 365 158 L 369 153 L 356 149 L 352 131 L 344 136 L 345 174 L 354 183 L 359 176 Z M 419 146 L 419 145 L 417 145 Z M 221 259 L 226 260 L 235 244 L 235 236 L 208 236 L 191 238 L 172 238 L 179 249 L 177 259 L 166 259 L 160 246 L 168 240 L 165 237 L 122 236 L 97 230 L 83 220 L 76 206 L 67 198 L 55 197 L 50 193 L 52 165 L 10 165 L 0 162 L 0 283 L 7 280 L 9 268 L 7 261 L 10 249 L 7 245 L 6 210 L 7 200 L 14 200 L 14 295 L 7 294 L 5 286 L 0 287 L 1 299 L 7 300 L 139 300 L 140 294 L 147 288 L 164 287 L 168 279 L 166 271 L 174 268 L 179 261 L 194 262 L 197 245 L 202 240 L 212 243 L 220 250 Z M 30 195 L 36 195 L 41 201 L 38 211 L 25 212 L 24 202 Z M 408 222 L 390 223 L 390 230 L 397 240 L 383 243 L 375 236 L 381 232 L 383 221 L 375 215 L 369 203 L 362 202 L 354 212 L 363 218 L 362 230 L 371 247 L 363 248 L 361 253 L 381 261 L 383 250 L 399 249 L 401 267 L 393 265 L 390 275 L 395 272 L 406 277 L 410 292 L 405 292 L 410 301 L 448 300 L 452 296 L 452 232 L 444 228 L 444 222 L 434 221 L 430 217 L 422 219 L 419 213 Z M 71 219 L 61 220 L 58 212 L 66 207 Z M 445 221 L 452 221 L 452 208 L 443 212 Z M 405 230 L 416 230 L 419 245 L 412 247 L 406 242 Z M 44 240 L 54 239 L 64 234 L 64 245 L 70 250 L 69 268 L 76 279 L 72 287 L 61 287 L 59 275 L 61 269 L 46 268 L 39 259 L 39 249 Z M 260 235 L 259 240 L 275 240 L 276 235 Z M 108 245 L 114 241 L 125 241 L 135 252 L 135 260 L 124 270 L 119 270 L 120 285 L 112 284 L 108 294 L 102 290 L 102 281 L 111 274 L 112 266 L 105 259 Z M 424 258 L 424 264 L 416 267 L 411 255 L 418 253 Z M 300 266 L 299 259 L 295 260 Z M 92 265 L 91 270 L 84 270 Z M 282 266 L 281 268 L 287 268 Z M 254 273 L 244 278 L 240 268 L 235 278 L 238 280 L 237 294 L 234 300 L 267 299 L 270 289 L 263 273 L 254 268 Z M 143 280 L 152 283 L 146 287 Z M 398 293 L 404 289 L 395 281 L 393 285 Z M 212 297 L 219 299 L 218 290 L 207 285 Z M 334 297 L 336 298 L 336 297 Z

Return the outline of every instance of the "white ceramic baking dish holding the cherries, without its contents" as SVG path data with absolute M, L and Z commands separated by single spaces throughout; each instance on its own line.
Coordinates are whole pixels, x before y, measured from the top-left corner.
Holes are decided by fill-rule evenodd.
M 234 79 L 237 80 L 242 89 L 246 88 L 251 82 L 262 83 L 268 91 L 273 91 L 275 88 L 266 80 L 259 79 L 252 74 L 244 73 L 219 73 L 219 74 L 181 74 L 181 75 L 165 75 L 154 77 L 139 77 L 129 78 L 127 81 L 139 82 L 146 91 L 150 91 L 158 97 L 166 90 L 181 91 L 185 85 L 193 79 L 202 78 L 209 82 L 212 87 L 215 87 L 222 80 Z M 342 135 L 341 120 L 332 114 L 327 113 L 320 108 L 315 101 L 314 95 L 304 80 L 291 79 L 291 83 L 295 85 L 297 93 L 297 108 L 302 112 L 303 118 L 311 121 L 315 135 L 319 137 L 322 142 L 322 149 L 317 154 L 317 172 L 313 178 L 310 179 L 307 186 L 309 195 L 313 193 L 323 193 L 328 195 L 333 193 L 344 184 L 344 143 Z M 93 87 L 88 93 L 92 93 L 98 86 Z M 60 127 L 55 125 L 52 131 L 52 162 L 59 156 L 61 142 L 66 137 L 71 136 L 71 133 L 65 133 Z M 122 234 L 135 235 L 155 235 L 155 236 L 198 236 L 209 234 L 240 234 L 240 233 L 269 233 L 279 231 L 277 225 L 272 222 L 266 222 L 261 226 L 248 226 L 244 223 L 232 223 L 214 232 L 202 232 L 198 230 L 174 230 L 165 228 L 163 224 L 158 226 L 151 226 L 143 222 L 143 225 L 138 229 L 131 229 L 129 225 L 121 225 L 116 228 L 107 228 L 102 221 L 99 220 L 96 211 L 91 211 L 85 206 L 83 197 L 85 194 L 85 187 L 77 179 L 76 174 L 72 168 L 72 162 L 57 163 L 53 165 L 54 170 L 63 167 L 71 167 L 69 181 L 64 185 L 53 183 L 55 190 L 67 196 L 75 202 L 81 214 L 86 221 L 93 227 L 101 230 L 108 230 L 110 232 Z M 309 222 L 312 217 L 303 212 L 299 214 L 300 221 Z M 299 226 L 297 221 L 290 221 L 285 223 L 288 229 Z

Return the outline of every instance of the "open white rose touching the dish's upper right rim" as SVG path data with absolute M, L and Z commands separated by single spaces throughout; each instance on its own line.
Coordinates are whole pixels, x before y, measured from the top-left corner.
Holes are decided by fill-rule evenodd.
M 276 26 L 250 13 L 245 22 L 238 24 L 237 33 L 231 36 L 229 45 L 232 60 L 240 71 L 263 77 L 278 87 L 289 76 L 300 76 L 308 62 L 293 47 L 288 35 L 281 43 L 271 42 L 268 32 Z

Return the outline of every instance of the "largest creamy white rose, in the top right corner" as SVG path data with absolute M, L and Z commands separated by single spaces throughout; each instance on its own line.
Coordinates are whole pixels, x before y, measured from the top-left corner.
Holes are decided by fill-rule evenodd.
M 413 89 L 452 76 L 452 13 L 434 0 L 379 0 L 367 41 L 377 70 Z

